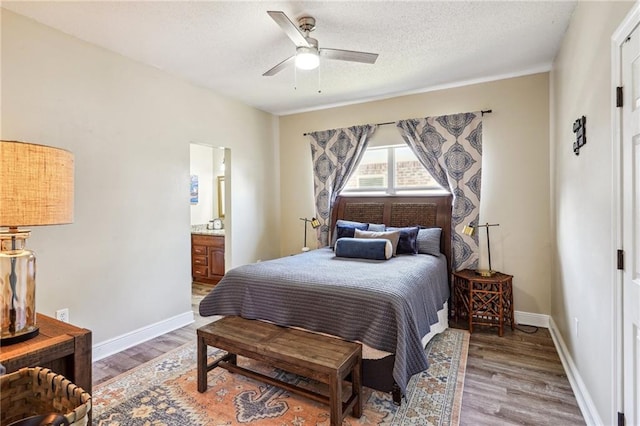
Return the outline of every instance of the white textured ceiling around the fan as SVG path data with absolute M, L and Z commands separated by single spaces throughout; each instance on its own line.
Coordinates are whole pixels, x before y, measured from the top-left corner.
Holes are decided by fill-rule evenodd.
M 2 1 L 2 7 L 274 114 L 550 69 L 575 1 Z M 319 72 L 262 73 L 295 53 L 267 10 L 311 15 Z M 321 93 L 318 93 L 318 89 Z

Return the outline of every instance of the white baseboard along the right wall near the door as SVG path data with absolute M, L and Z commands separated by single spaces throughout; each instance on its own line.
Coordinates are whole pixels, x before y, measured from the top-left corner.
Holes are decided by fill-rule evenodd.
M 551 334 L 553 343 L 555 344 L 558 355 L 560 356 L 560 361 L 562 361 L 564 371 L 567 373 L 569 384 L 571 385 L 571 389 L 576 397 L 576 401 L 578 402 L 578 407 L 580 407 L 584 421 L 587 425 L 593 426 L 605 424 L 602 422 L 602 419 L 598 414 L 596 405 L 593 403 L 593 399 L 591 399 L 591 395 L 580 376 L 580 372 L 578 371 L 576 364 L 573 362 L 571 353 L 569 352 L 553 317 L 549 317 L 549 333 Z

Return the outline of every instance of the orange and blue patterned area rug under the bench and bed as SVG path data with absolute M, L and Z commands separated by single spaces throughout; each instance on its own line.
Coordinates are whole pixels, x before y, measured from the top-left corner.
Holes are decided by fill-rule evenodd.
M 194 339 L 195 340 L 195 339 Z M 429 369 L 409 381 L 406 399 L 396 406 L 389 394 L 363 389 L 360 419 L 347 425 L 458 425 L 469 333 L 447 329 L 425 351 Z M 211 359 L 224 352 L 210 348 Z M 238 363 L 321 390 L 321 384 L 238 357 Z M 197 391 L 196 344 L 188 343 L 93 389 L 93 424 L 110 426 L 328 426 L 324 404 L 278 387 L 232 374 L 222 368 L 208 373 L 205 393 Z

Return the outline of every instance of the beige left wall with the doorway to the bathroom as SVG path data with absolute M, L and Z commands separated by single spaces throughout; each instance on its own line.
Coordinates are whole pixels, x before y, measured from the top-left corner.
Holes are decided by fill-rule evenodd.
M 191 314 L 190 142 L 230 149 L 230 266 L 279 254 L 270 114 L 6 10 L 1 79 L 1 137 L 75 154 L 74 223 L 28 242 L 39 312 L 94 344 Z

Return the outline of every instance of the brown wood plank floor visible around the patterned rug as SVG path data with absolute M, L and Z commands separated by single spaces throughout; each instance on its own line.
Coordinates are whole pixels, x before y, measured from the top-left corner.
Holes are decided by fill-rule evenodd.
M 198 315 L 209 287 L 194 284 L 195 323 L 93 363 L 93 385 L 195 339 L 212 318 Z M 462 324 L 452 324 L 462 327 Z M 521 327 L 525 331 L 531 327 Z M 533 334 L 474 328 L 469 344 L 461 425 L 584 425 L 547 329 Z

